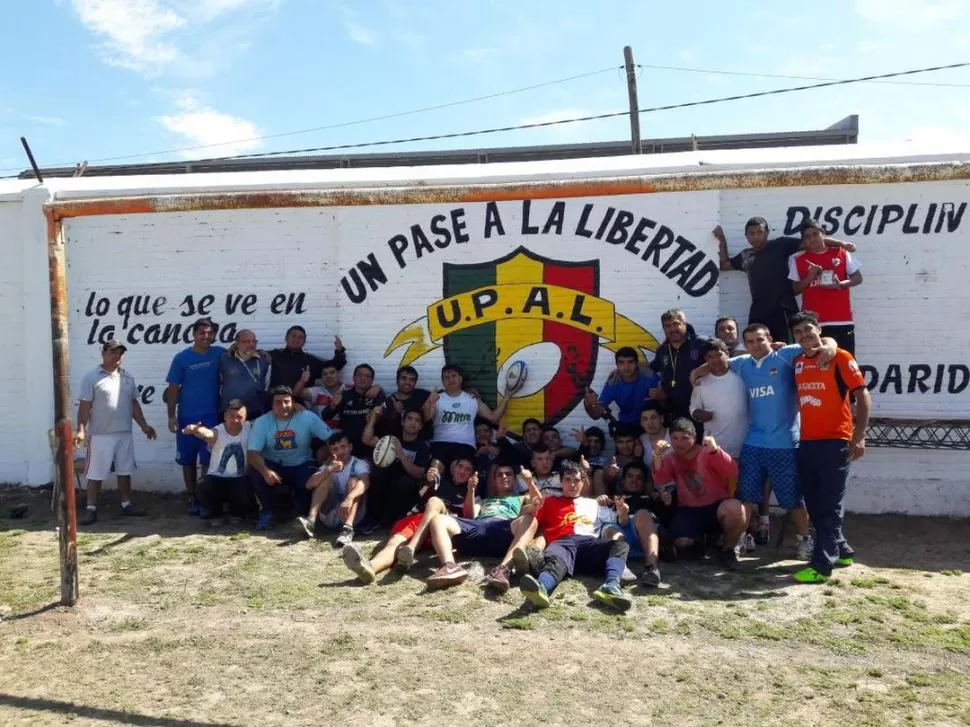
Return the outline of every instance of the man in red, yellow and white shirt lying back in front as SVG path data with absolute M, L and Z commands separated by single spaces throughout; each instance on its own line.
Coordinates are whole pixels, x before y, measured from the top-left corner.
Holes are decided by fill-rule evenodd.
M 563 462 L 562 496 L 545 497 L 538 492 L 531 472 L 520 473 L 529 484 L 537 507 L 536 520 L 545 536 L 542 568 L 538 576 L 525 575 L 519 587 L 537 608 L 547 608 L 556 586 L 575 571 L 604 573 L 603 585 L 593 598 L 610 608 L 626 611 L 633 601 L 620 589 L 620 576 L 626 568 L 630 546 L 623 540 L 601 540 L 599 504 L 581 497 L 586 475 L 574 462 Z

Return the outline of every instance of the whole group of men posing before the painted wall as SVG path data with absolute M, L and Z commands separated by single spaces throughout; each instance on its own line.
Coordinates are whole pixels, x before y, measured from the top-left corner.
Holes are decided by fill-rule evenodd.
M 794 523 L 798 557 L 809 561 L 795 580 L 824 582 L 854 557 L 843 499 L 849 463 L 865 451 L 870 411 L 853 358 L 848 289 L 861 282 L 854 247 L 827 238 L 812 220 L 799 240 L 768 241 L 767 224 L 753 218 L 750 246 L 733 258 L 720 228 L 714 234 L 722 268 L 748 274 L 747 327 L 739 333 L 723 317 L 714 337 L 701 338 L 683 311 L 665 311 L 665 339 L 649 365 L 621 348 L 603 390 L 582 392 L 587 414 L 605 427 L 572 432 L 576 447 L 535 419 L 511 435 L 503 421 L 508 392 L 492 409 L 452 365 L 433 390 L 418 388 L 418 372 L 403 366 L 387 394 L 368 364 L 343 384 L 339 338 L 329 360 L 304 351 L 300 326 L 281 349 L 260 349 L 248 330 L 225 349 L 213 345 L 211 320 L 196 321 L 165 395 L 191 512 L 220 524 L 255 504 L 257 527 L 266 529 L 285 501 L 307 536 L 337 532 L 344 562 L 365 583 L 395 566 L 409 570 L 431 547 L 440 563 L 432 588 L 468 577 L 457 551 L 498 559 L 488 585 L 506 591 L 518 576 L 538 607 L 564 578 L 588 571 L 603 577 L 594 597 L 626 610 L 620 582 L 630 577 L 631 556 L 642 559 L 640 582 L 651 587 L 660 583 L 662 555 L 713 548 L 736 569 L 739 552 L 767 543 L 770 484 Z M 131 422 L 149 438 L 156 433 L 120 366 L 125 350 L 104 344 L 101 366 L 82 384 L 82 524 L 97 520 L 99 485 L 112 467 L 122 513 L 142 514 L 130 495 Z M 391 437 L 396 455 L 386 467 L 371 461 L 381 437 Z M 382 526 L 390 538 L 368 557 L 355 532 Z

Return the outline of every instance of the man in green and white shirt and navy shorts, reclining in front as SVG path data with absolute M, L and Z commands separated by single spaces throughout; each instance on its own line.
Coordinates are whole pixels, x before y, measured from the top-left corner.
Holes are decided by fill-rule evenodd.
M 472 488 L 469 488 L 473 492 Z M 471 496 L 471 495 L 469 495 Z M 463 583 L 468 571 L 455 562 L 454 550 L 478 558 L 501 558 L 486 583 L 505 593 L 509 589 L 512 550 L 532 539 L 534 518 L 519 516 L 529 495 L 515 494 L 515 471 L 511 465 L 495 468 L 491 494 L 474 504 L 474 517 L 441 514 L 431 520 L 431 543 L 441 567 L 428 579 L 428 588 L 447 588 Z M 466 500 L 467 501 L 467 500 Z

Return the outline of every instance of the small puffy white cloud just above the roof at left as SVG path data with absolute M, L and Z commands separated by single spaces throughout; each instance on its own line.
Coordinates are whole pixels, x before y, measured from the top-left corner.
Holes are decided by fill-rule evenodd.
M 169 132 L 177 134 L 194 147 L 211 147 L 206 156 L 233 156 L 252 152 L 259 147 L 256 125 L 247 119 L 224 114 L 203 105 L 191 94 L 176 100 L 179 113 L 156 119 Z M 197 158 L 198 150 L 183 149 L 184 159 Z

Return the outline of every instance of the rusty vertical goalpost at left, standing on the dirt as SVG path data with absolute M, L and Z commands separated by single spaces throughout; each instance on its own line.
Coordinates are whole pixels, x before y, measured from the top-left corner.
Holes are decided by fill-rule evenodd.
M 61 605 L 78 598 L 77 503 L 74 496 L 74 428 L 71 424 L 70 354 L 67 344 L 67 267 L 61 223 L 47 210 L 47 270 L 50 277 L 51 341 L 54 349 L 54 466 L 58 490 L 57 524 L 61 561 Z

